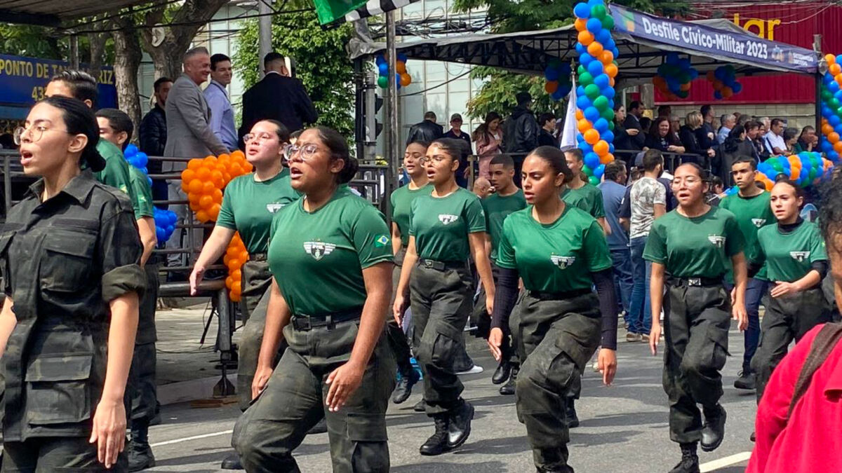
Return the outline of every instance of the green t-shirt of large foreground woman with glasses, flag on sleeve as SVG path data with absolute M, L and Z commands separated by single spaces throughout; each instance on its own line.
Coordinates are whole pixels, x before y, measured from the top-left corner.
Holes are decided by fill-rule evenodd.
M 392 262 L 383 215 L 348 188 L 315 212 L 304 200 L 274 216 L 269 269 L 293 314 L 324 316 L 365 304 L 362 270 Z

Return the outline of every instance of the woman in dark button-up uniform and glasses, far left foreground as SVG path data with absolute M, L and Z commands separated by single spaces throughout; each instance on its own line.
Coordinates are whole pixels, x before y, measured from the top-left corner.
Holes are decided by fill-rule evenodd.
M 15 133 L 40 177 L 0 233 L 3 471 L 127 471 L 125 385 L 146 285 L 129 197 L 97 183 L 99 126 L 51 97 Z

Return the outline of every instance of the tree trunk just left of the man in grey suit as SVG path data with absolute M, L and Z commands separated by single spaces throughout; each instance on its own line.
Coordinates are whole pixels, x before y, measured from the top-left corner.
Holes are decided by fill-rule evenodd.
M 120 31 L 114 35 L 114 75 L 117 87 L 117 103 L 120 109 L 129 114 L 135 124 L 136 132 L 131 141 L 137 142 L 137 126 L 141 124 L 141 99 L 137 88 L 137 71 L 141 66 L 141 43 L 134 25 L 129 21 L 120 22 Z

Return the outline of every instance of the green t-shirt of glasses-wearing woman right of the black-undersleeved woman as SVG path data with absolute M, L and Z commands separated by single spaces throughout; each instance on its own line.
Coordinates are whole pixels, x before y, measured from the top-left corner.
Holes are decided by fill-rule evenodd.
M 722 207 L 688 218 L 672 210 L 656 219 L 643 259 L 661 263 L 676 278 L 722 278 L 727 260 L 743 251 L 737 218 Z

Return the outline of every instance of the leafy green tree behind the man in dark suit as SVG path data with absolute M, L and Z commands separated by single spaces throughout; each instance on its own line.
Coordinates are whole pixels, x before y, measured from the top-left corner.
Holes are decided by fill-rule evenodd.
M 322 29 L 314 11 L 272 17 L 272 49 L 296 60 L 296 77 L 318 110 L 318 125 L 344 136 L 354 134 L 354 66 L 345 50 L 353 34 L 351 24 Z M 246 87 L 258 82 L 263 58 L 258 57 L 257 20 L 243 25 L 233 60 Z

